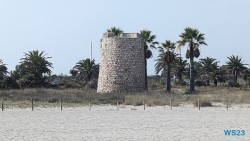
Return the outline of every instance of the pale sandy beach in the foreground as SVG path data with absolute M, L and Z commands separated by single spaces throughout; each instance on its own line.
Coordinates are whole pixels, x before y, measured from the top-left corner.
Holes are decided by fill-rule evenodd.
M 0 141 L 250 140 L 250 109 L 94 106 L 0 111 Z M 225 129 L 245 130 L 241 137 Z

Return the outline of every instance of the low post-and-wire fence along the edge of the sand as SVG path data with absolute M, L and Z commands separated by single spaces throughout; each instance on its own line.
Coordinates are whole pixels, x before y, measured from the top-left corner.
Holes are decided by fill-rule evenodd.
M 60 98 L 58 100 L 51 100 L 51 101 L 54 101 L 53 103 L 49 103 L 49 102 L 41 102 L 41 101 L 36 101 L 34 98 L 31 98 L 30 100 L 27 100 L 27 101 L 18 101 L 18 102 L 14 102 L 14 101 L 10 101 L 10 100 L 4 100 L 2 98 L 1 100 L 1 110 L 2 111 L 5 111 L 6 109 L 13 109 L 13 108 L 29 108 L 31 109 L 31 111 L 34 111 L 35 108 L 58 108 L 59 110 L 63 111 L 64 108 L 70 108 L 70 107 L 81 107 L 82 109 L 86 109 L 86 110 L 91 110 L 93 109 L 93 106 L 102 106 L 102 105 L 112 105 L 112 106 L 116 106 L 117 109 L 119 110 L 119 107 L 121 106 L 126 106 L 127 104 L 125 104 L 124 102 L 120 102 L 120 100 L 117 100 L 116 103 L 114 104 L 114 102 L 112 103 L 98 103 L 96 102 L 94 99 L 89 99 L 88 100 L 88 103 L 84 102 L 84 103 L 81 103 L 81 102 L 76 102 L 76 103 L 69 103 L 67 101 L 64 101 L 63 98 Z M 151 105 L 149 103 L 147 103 L 147 101 L 145 99 L 141 99 L 141 100 L 137 100 L 134 102 L 134 104 L 130 105 L 130 106 L 133 106 L 134 108 L 131 108 L 132 110 L 133 109 L 136 109 L 135 107 L 137 106 L 142 106 L 143 110 L 146 110 L 147 107 L 153 107 L 153 106 L 164 106 L 164 107 L 169 107 L 168 109 L 169 110 L 173 110 L 175 107 L 179 107 L 180 105 L 179 104 L 176 104 L 174 102 L 174 98 L 170 98 L 168 102 L 166 102 L 165 104 L 162 104 L 162 105 Z M 138 104 L 140 103 L 141 104 Z M 183 102 L 185 103 L 185 102 Z M 206 101 L 203 101 L 202 99 L 200 98 L 197 98 L 195 101 L 193 102 L 189 102 L 189 104 L 192 104 L 193 108 L 197 108 L 197 110 L 201 110 L 202 108 L 205 108 L 205 107 L 219 107 L 219 108 L 224 108 L 226 110 L 229 110 L 231 105 L 234 105 L 234 103 L 230 103 L 229 100 L 225 100 L 224 103 L 220 103 L 221 105 L 220 106 L 215 106 L 212 104 L 213 102 L 206 102 Z M 214 102 L 216 103 L 216 102 Z M 217 102 L 219 103 L 219 102 Z M 246 108 L 249 108 L 250 105 Z

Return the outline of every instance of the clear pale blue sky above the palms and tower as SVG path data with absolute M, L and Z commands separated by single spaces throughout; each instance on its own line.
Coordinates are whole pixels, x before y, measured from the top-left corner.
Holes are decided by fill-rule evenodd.
M 24 52 L 43 50 L 52 57 L 53 74 L 69 74 L 90 57 L 91 41 L 93 58 L 100 62 L 99 42 L 112 26 L 124 32 L 151 30 L 161 43 L 179 40 L 184 28 L 192 27 L 208 44 L 200 58 L 210 56 L 222 65 L 234 54 L 250 64 L 249 7 L 249 0 L 0 0 L 0 59 L 11 71 Z

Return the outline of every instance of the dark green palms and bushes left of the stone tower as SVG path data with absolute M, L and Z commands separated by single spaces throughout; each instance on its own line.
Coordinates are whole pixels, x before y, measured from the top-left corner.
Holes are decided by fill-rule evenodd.
M 50 58 L 44 51 L 29 51 L 24 53 L 16 69 L 11 72 L 0 60 L 0 89 L 83 87 L 98 78 L 99 64 L 95 64 L 95 60 L 80 60 L 70 70 L 71 76 L 57 76 L 51 75 L 53 64 Z M 95 88 L 97 81 L 93 85 L 91 87 Z

